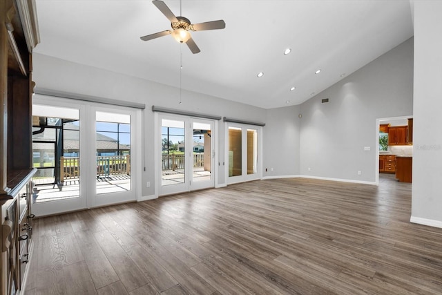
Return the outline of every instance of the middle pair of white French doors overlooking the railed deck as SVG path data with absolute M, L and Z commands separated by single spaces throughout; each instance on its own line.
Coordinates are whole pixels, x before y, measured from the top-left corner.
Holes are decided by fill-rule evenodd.
M 158 196 L 215 186 L 215 122 L 158 115 Z

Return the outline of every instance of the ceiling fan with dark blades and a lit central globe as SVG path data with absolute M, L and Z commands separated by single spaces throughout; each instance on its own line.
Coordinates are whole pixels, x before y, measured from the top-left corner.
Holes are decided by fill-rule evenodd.
M 173 30 L 164 30 L 162 32 L 156 32 L 155 34 L 146 35 L 140 37 L 143 41 L 152 40 L 158 37 L 166 36 L 171 34 L 175 40 L 180 43 L 185 43 L 189 46 L 192 53 L 199 53 L 201 50 L 193 41 L 191 33 L 189 30 L 200 31 L 200 30 L 218 30 L 226 27 L 226 23 L 221 19 L 219 21 L 207 21 L 205 23 L 194 23 L 192 24 L 186 17 L 175 17 L 173 12 L 166 6 L 166 3 L 160 0 L 153 0 L 153 5 L 165 15 L 169 21 L 171 21 L 171 26 Z M 180 12 L 181 12 L 181 1 L 180 1 Z

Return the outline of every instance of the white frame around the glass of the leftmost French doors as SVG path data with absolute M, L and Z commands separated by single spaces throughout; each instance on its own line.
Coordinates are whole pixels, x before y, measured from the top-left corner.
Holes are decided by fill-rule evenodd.
M 61 97 L 34 95 L 32 104 L 43 106 L 56 106 L 61 108 L 75 108 L 79 110 L 79 154 L 80 163 L 95 163 L 95 111 L 107 111 L 115 113 L 131 113 L 131 196 L 118 196 L 110 193 L 107 199 L 97 198 L 96 183 L 93 181 L 96 175 L 96 165 L 91 164 L 82 167 L 80 173 L 79 198 L 66 200 L 54 200 L 32 204 L 32 211 L 36 216 L 47 216 L 68 211 L 77 211 L 93 207 L 101 207 L 107 204 L 129 202 L 141 198 L 141 110 L 123 106 L 98 104 L 93 102 L 79 102 L 75 99 Z M 91 127 L 93 126 L 93 127 Z M 89 142 L 89 144 L 86 144 Z M 94 144 L 90 144 L 93 142 Z M 88 150 L 88 146 L 93 149 Z

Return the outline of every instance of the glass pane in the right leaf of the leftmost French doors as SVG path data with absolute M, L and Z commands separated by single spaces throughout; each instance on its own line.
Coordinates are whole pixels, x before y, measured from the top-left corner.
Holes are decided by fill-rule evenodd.
M 131 116 L 97 111 L 95 121 L 96 192 L 131 190 Z

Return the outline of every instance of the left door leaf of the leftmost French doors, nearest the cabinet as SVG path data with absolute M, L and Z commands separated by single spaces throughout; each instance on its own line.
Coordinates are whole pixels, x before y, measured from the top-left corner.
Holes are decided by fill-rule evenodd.
M 47 215 L 84 207 L 80 198 L 79 155 L 81 108 L 32 106 L 33 211 Z

